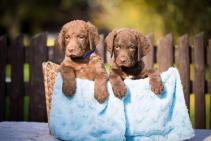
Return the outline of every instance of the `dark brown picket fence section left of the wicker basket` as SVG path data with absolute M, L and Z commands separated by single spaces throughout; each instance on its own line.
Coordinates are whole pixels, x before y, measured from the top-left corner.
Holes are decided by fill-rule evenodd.
M 18 36 L 7 45 L 5 36 L 0 37 L 0 121 L 24 120 L 24 96 L 29 97 L 28 120 L 47 121 L 42 74 L 42 62 L 59 63 L 62 53 L 57 47 L 47 47 L 47 33 L 40 33 L 24 46 L 24 36 Z M 11 82 L 6 82 L 6 65 L 11 65 Z M 29 65 L 29 81 L 24 81 L 24 64 Z M 6 103 L 9 97 L 9 107 Z M 6 111 L 7 110 L 7 111 Z M 9 112 L 9 119 L 6 114 Z

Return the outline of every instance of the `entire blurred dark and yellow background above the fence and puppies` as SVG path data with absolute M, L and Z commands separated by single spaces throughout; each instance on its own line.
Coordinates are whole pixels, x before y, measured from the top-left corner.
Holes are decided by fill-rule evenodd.
M 172 32 L 205 31 L 211 34 L 209 0 L 1 0 L 0 34 L 15 38 L 20 33 L 58 33 L 74 19 L 89 20 L 100 33 L 132 27 L 155 37 Z

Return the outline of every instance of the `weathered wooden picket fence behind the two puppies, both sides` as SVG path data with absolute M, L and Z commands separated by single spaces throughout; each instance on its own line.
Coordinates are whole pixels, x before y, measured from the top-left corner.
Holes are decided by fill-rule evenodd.
M 190 94 L 195 95 L 195 128 L 205 128 L 205 94 L 211 94 L 211 39 L 207 42 L 204 34 L 199 33 L 191 38 L 190 43 L 185 34 L 174 45 L 172 34 L 168 34 L 155 45 L 153 34 L 148 38 L 154 46 L 144 58 L 146 67 L 158 67 L 161 71 L 173 65 L 179 68 L 188 109 Z M 57 45 L 47 47 L 47 33 L 31 38 L 28 46 L 24 46 L 23 40 L 24 36 L 20 35 L 8 45 L 6 37 L 0 37 L 0 121 L 24 120 L 25 96 L 30 101 L 27 120 L 47 120 L 41 64 L 47 60 L 59 63 L 63 54 Z M 8 64 L 11 66 L 11 81 L 5 81 Z M 29 81 L 24 81 L 25 64 L 29 65 Z M 9 108 L 6 106 L 8 101 Z M 8 114 L 9 119 L 6 118 Z M 211 128 L 211 110 L 209 114 Z

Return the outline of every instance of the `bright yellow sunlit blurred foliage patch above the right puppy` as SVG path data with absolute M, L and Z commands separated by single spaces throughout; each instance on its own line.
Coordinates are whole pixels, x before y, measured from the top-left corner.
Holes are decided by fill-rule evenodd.
M 131 27 L 144 33 L 162 33 L 164 25 L 161 16 L 143 0 L 98 0 L 97 3 L 102 10 L 93 12 L 92 19 L 99 27 L 109 30 Z

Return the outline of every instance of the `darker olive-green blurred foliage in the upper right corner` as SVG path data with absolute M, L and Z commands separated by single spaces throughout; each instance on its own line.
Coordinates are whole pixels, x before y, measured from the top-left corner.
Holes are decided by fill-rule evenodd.
M 211 3 L 208 0 L 153 0 L 147 1 L 162 15 L 165 32 L 178 34 L 210 32 Z

